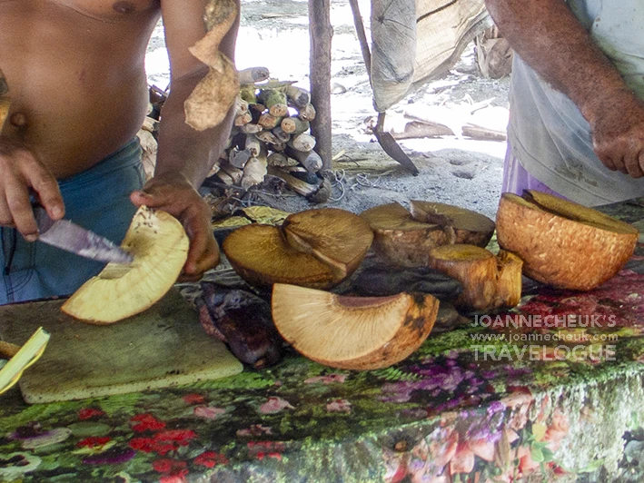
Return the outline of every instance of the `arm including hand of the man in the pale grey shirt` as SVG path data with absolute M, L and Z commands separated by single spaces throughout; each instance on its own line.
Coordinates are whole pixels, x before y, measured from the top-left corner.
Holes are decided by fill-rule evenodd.
M 593 147 L 609 170 L 644 176 L 644 103 L 563 0 L 486 0 L 520 57 L 570 97 L 590 123 Z

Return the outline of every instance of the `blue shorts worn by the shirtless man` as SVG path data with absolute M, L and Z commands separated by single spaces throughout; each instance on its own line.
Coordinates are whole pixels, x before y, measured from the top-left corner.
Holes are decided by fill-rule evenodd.
M 144 185 L 141 153 L 134 138 L 87 171 L 59 180 L 65 219 L 122 242 L 136 212 L 130 193 Z M 0 228 L 0 236 L 0 304 L 69 295 L 104 267 L 43 242 L 26 242 L 12 228 Z

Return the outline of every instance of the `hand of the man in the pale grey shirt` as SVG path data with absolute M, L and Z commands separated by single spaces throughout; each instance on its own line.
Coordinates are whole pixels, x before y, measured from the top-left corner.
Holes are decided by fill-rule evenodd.
M 622 90 L 598 103 L 590 122 L 593 149 L 610 171 L 644 176 L 644 102 Z

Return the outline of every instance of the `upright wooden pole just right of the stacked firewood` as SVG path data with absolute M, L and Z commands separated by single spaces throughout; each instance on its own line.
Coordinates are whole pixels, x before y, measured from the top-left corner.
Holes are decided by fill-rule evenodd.
M 317 115 L 311 133 L 317 143 L 315 151 L 322 158 L 322 169 L 331 169 L 331 0 L 309 0 L 309 34 L 311 36 L 311 103 Z

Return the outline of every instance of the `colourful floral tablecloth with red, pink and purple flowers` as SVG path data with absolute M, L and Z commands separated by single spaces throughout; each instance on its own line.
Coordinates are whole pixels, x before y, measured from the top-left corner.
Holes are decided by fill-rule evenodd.
M 644 219 L 638 202 L 606 211 Z M 386 370 L 271 370 L 104 399 L 0 397 L 0 481 L 644 481 L 644 248 L 596 291 L 441 327 Z

